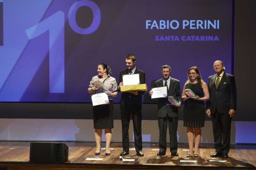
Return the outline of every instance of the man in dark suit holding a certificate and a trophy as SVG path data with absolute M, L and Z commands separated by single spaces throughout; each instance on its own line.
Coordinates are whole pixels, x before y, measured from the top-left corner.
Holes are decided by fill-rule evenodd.
M 174 156 L 179 156 L 177 128 L 178 128 L 178 107 L 181 104 L 180 81 L 170 77 L 171 67 L 168 65 L 162 66 L 163 78 L 155 82 L 155 87 L 168 87 L 167 97 L 159 98 L 158 100 L 158 126 L 159 126 L 159 152 L 157 155 L 165 155 L 166 148 L 166 132 L 167 124 L 169 124 L 170 134 L 170 151 Z M 152 96 L 153 91 L 149 91 Z M 179 105 L 169 105 L 168 96 L 173 96 Z M 168 105 L 167 105 L 168 104 Z

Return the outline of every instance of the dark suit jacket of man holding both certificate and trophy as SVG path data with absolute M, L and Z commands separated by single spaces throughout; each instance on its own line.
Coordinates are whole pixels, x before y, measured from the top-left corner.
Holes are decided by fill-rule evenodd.
M 163 78 L 155 82 L 155 87 L 164 87 Z M 157 112 L 158 117 L 166 117 L 167 114 L 169 117 L 178 117 L 178 107 L 173 105 L 166 105 L 166 104 L 171 104 L 168 101 L 168 96 L 173 96 L 179 103 L 182 103 L 179 80 L 171 78 L 167 97 L 159 98 L 158 112 Z

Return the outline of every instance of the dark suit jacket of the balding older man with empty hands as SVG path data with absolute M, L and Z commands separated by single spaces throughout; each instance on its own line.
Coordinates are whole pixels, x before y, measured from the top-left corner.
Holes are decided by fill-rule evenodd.
M 215 86 L 216 74 L 208 78 L 210 100 L 206 101 L 206 109 L 214 113 L 229 113 L 230 109 L 236 110 L 236 82 L 235 77 L 228 73 L 223 74 L 218 89 Z

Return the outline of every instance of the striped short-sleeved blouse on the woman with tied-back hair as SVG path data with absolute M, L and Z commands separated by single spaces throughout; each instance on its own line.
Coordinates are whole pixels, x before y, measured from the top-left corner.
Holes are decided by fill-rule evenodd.
M 90 82 L 89 88 L 90 87 L 91 88 L 94 87 L 94 81 L 102 82 L 101 78 L 99 78 L 99 76 L 94 76 L 92 78 L 92 81 Z M 113 93 L 113 92 L 117 92 L 118 93 L 118 91 L 117 91 L 117 83 L 116 83 L 116 79 L 115 78 L 108 76 L 102 83 L 105 85 L 105 87 L 99 88 L 93 94 L 103 93 L 103 92 L 107 92 L 107 91 L 109 91 L 111 93 Z M 109 96 L 108 98 L 109 98 L 109 100 L 113 100 L 113 97 Z

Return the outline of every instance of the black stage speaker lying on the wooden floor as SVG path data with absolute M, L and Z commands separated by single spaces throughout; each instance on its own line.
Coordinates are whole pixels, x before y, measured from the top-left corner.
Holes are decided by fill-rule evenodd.
M 64 143 L 30 143 L 29 162 L 66 162 L 68 146 Z

